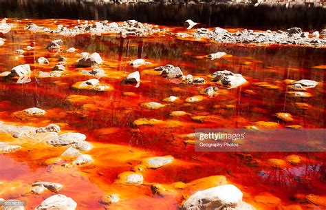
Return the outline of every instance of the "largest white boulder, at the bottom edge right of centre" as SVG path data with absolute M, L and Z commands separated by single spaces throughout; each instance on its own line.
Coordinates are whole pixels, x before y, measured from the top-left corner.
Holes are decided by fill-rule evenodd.
M 221 185 L 197 191 L 182 205 L 182 210 L 213 210 L 235 208 L 242 201 L 243 193 L 235 185 Z

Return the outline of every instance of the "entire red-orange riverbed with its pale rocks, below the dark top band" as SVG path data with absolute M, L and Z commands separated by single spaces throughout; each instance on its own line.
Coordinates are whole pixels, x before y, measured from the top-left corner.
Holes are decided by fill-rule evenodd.
M 187 23 L 3 19 L 3 208 L 325 208 L 325 153 L 194 146 L 197 128 L 325 127 L 323 31 Z

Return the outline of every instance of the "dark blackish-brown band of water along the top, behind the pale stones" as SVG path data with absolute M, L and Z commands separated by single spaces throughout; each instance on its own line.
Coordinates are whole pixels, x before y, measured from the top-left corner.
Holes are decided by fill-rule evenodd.
M 34 19 L 96 19 L 125 21 L 137 19 L 161 25 L 180 25 L 186 19 L 206 27 L 229 26 L 243 28 L 305 30 L 323 29 L 326 9 L 315 7 L 239 5 L 228 3 L 162 4 L 162 3 L 96 3 L 82 1 L 0 1 L 0 17 Z

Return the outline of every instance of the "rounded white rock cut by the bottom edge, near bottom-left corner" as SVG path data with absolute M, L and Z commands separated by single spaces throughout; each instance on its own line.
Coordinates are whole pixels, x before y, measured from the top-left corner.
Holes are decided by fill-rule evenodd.
M 58 194 L 41 202 L 35 210 L 75 210 L 77 203 L 67 196 Z

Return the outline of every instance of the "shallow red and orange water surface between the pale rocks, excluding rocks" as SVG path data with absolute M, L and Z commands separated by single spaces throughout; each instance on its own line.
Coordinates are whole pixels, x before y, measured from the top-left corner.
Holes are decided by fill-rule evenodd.
M 10 19 L 8 22 L 11 22 Z M 195 128 L 244 127 L 257 121 L 278 122 L 276 112 L 290 112 L 294 116 L 292 123 L 305 128 L 325 128 L 325 48 L 301 48 L 293 46 L 252 46 L 219 44 L 208 41 L 185 41 L 172 36 L 127 37 L 115 35 L 90 36 L 78 35 L 74 38 L 49 34 L 32 34 L 22 27 L 28 22 L 54 27 L 54 20 L 23 20 L 17 28 L 8 34 L 1 34 L 6 44 L 0 47 L 1 72 L 19 64 L 30 63 L 34 73 L 48 72 L 57 58 L 54 53 L 45 50 L 47 43 L 54 39 L 63 39 L 65 48 L 74 47 L 75 53 L 58 53 L 67 57 L 67 76 L 58 78 L 32 77 L 30 83 L 16 84 L 10 78 L 1 78 L 0 82 L 0 120 L 18 125 L 46 126 L 50 123 L 61 125 L 63 130 L 74 130 L 87 135 L 94 144 L 89 151 L 94 157 L 94 165 L 88 167 L 63 169 L 60 165 L 43 165 L 47 158 L 59 156 L 65 149 L 35 147 L 25 145 L 25 149 L 12 154 L 0 155 L 0 183 L 7 188 L 0 189 L 1 197 L 17 198 L 27 201 L 27 209 L 33 209 L 51 193 L 41 196 L 24 195 L 26 185 L 35 180 L 60 182 L 65 187 L 61 193 L 72 197 L 78 203 L 78 209 L 103 209 L 98 202 L 100 196 L 108 192 L 118 192 L 122 201 L 112 204 L 109 209 L 178 209 L 181 198 L 178 196 L 153 196 L 150 185 L 141 187 L 120 186 L 114 183 L 118 174 L 129 171 L 142 158 L 148 156 L 172 155 L 176 161 L 160 169 L 144 171 L 147 183 L 190 182 L 206 176 L 224 175 L 229 182 L 246 192 L 244 200 L 258 209 L 266 209 L 254 203 L 254 196 L 263 192 L 272 193 L 281 198 L 282 205 L 298 204 L 292 200 L 296 193 L 326 196 L 325 153 L 301 153 L 301 165 L 284 169 L 270 167 L 269 158 L 285 158 L 287 153 L 252 153 L 258 166 L 239 158 L 237 153 L 195 152 L 193 145 L 184 143 L 181 134 L 190 134 Z M 74 25 L 76 21 L 59 20 L 56 24 Z M 171 28 L 172 31 L 184 30 Z M 23 57 L 14 54 L 17 49 L 25 49 L 35 42 L 35 50 L 26 51 Z M 226 52 L 232 56 L 210 61 L 202 56 L 212 52 Z M 107 77 L 100 78 L 101 83 L 109 84 L 109 92 L 90 92 L 72 90 L 71 85 L 85 81 L 91 76 L 80 74 L 80 70 L 91 68 L 75 67 L 76 53 L 98 52 L 105 61 L 102 69 Z M 40 56 L 49 59 L 50 65 L 36 65 L 34 60 Z M 143 65 L 137 70 L 141 74 L 140 87 L 121 83 L 130 72 L 135 71 L 129 65 L 133 59 L 146 59 L 153 65 Z M 242 74 L 248 80 L 232 90 L 219 87 L 219 95 L 205 98 L 199 103 L 184 103 L 189 96 L 199 94 L 206 85 L 187 85 L 172 83 L 162 76 L 153 74 L 153 68 L 173 64 L 179 66 L 184 74 L 204 76 L 218 70 L 230 70 Z M 324 67 L 323 67 L 324 65 Z M 317 87 L 308 90 L 311 98 L 293 99 L 286 96 L 285 79 L 311 79 L 318 81 Z M 263 88 L 253 83 L 267 82 L 272 88 Z M 248 92 L 250 90 L 250 92 Z M 134 92 L 133 96 L 124 96 L 124 92 Z M 250 93 L 250 94 L 248 94 Z M 77 94 L 89 96 L 86 101 L 67 103 L 67 96 Z M 166 105 L 162 109 L 149 110 L 140 107 L 140 103 L 155 101 L 169 96 L 182 98 L 177 103 Z M 305 102 L 309 109 L 301 109 L 295 102 Z M 40 118 L 20 120 L 13 112 L 29 107 L 46 109 L 47 114 Z M 196 123 L 191 116 L 172 117 L 169 113 L 183 110 L 197 115 L 216 115 L 218 120 Z M 138 118 L 157 118 L 167 125 L 134 127 Z M 12 139 L 6 134 L 1 138 Z M 11 187 L 11 188 L 10 188 Z M 1 192 L 1 190 L 3 190 Z M 303 209 L 308 208 L 301 204 Z

